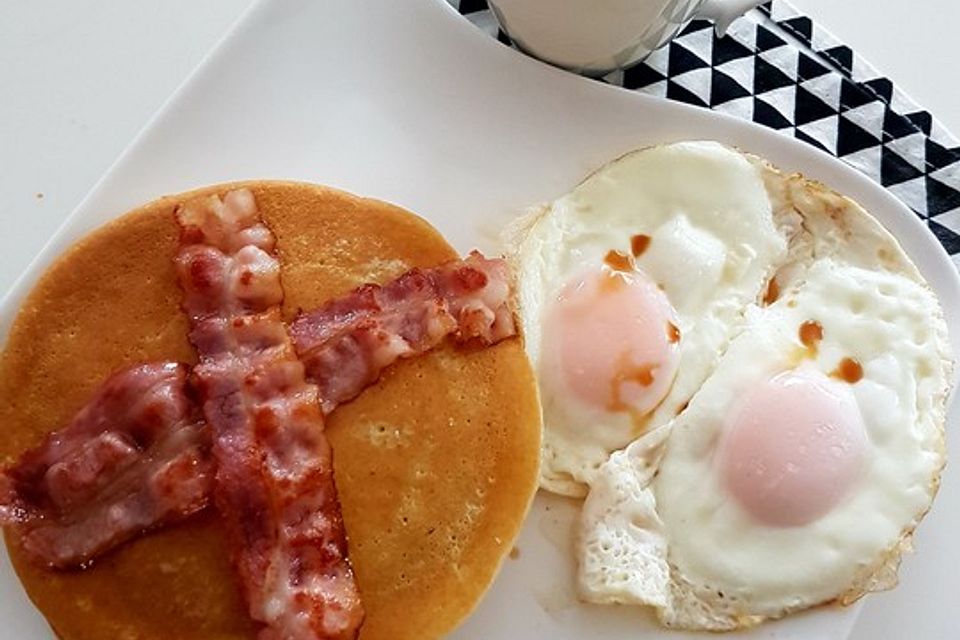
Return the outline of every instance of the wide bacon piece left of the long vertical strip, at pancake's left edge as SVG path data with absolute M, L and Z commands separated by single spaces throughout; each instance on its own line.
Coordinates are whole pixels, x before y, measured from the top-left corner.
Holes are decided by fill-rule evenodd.
M 65 428 L 0 473 L 0 524 L 66 568 L 203 509 L 213 472 L 185 365 L 111 376 Z

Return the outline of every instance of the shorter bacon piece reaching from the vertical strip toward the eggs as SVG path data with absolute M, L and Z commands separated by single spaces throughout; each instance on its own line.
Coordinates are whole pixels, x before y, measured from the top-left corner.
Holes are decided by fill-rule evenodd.
M 413 269 L 301 313 L 290 333 L 329 413 L 397 359 L 422 354 L 447 336 L 489 345 L 514 335 L 507 264 L 474 251 L 466 260 Z

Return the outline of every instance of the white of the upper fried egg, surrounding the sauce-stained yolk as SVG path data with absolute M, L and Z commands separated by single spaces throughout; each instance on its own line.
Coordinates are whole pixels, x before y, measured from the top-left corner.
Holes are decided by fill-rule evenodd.
M 544 444 L 541 486 L 583 495 L 610 453 L 680 411 L 738 330 L 743 309 L 761 294 L 796 232 L 791 215 L 775 219 L 762 168 L 712 142 L 686 142 L 626 155 L 570 194 L 509 231 L 528 354 L 541 381 Z M 544 385 L 541 353 L 546 309 L 568 280 L 602 264 L 610 250 L 631 251 L 676 310 L 679 373 L 643 420 L 597 411 Z

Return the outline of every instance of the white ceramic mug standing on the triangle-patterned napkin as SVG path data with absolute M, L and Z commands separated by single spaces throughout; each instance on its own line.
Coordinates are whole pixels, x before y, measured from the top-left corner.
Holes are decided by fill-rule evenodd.
M 693 18 L 723 34 L 763 0 L 489 0 L 501 28 L 530 55 L 587 75 L 646 58 Z

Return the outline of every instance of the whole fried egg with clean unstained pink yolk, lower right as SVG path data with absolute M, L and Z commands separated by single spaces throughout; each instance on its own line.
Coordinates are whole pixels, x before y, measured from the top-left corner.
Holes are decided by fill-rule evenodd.
M 855 203 L 753 162 L 802 219 L 778 295 L 747 306 L 686 410 L 603 465 L 581 523 L 581 595 L 671 627 L 735 629 L 892 587 L 944 464 L 936 297 Z

